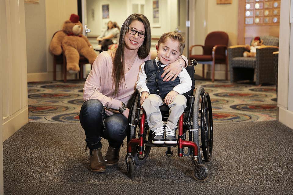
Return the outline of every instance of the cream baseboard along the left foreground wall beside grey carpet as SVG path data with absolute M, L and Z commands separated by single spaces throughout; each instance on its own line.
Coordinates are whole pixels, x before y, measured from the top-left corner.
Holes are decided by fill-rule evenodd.
M 28 122 L 28 106 L 5 118 L 2 125 L 3 142 Z

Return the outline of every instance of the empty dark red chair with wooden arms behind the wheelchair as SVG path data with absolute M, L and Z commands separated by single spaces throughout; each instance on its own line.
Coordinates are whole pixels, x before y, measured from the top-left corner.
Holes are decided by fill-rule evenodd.
M 189 49 L 189 60 L 195 59 L 199 64 L 202 64 L 202 77 L 204 78 L 204 65 L 212 65 L 212 82 L 215 81 L 215 64 L 225 64 L 225 79 L 228 80 L 228 59 L 227 47 L 229 37 L 226 32 L 214 31 L 207 35 L 204 45 L 192 45 Z M 192 48 L 201 46 L 203 49 L 202 55 L 192 55 Z

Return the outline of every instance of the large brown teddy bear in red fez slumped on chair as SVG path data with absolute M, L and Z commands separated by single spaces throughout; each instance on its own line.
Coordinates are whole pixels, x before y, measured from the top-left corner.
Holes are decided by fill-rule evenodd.
M 90 64 L 97 57 L 87 37 L 82 35 L 82 30 L 79 16 L 71 14 L 70 19 L 64 22 L 62 30 L 56 32 L 50 43 L 52 54 L 60 55 L 62 51 L 64 52 L 67 60 L 67 71 L 71 73 L 79 71 L 79 55 L 88 59 Z

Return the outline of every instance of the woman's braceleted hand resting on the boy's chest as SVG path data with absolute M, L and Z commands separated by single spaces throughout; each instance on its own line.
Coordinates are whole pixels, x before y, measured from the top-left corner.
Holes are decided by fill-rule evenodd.
M 184 61 L 182 58 L 179 58 L 179 60 Z M 181 62 L 181 61 L 180 61 Z M 184 62 L 181 62 L 181 64 Z M 165 66 L 164 68 L 164 73 L 162 74 L 161 77 L 164 77 L 164 81 L 169 81 L 169 80 L 175 80 L 176 77 L 179 75 L 179 73 L 182 70 L 182 67 L 180 65 L 180 63 L 178 62 L 178 60 L 176 60 L 175 62 L 172 62 L 170 64 L 168 64 L 167 66 Z

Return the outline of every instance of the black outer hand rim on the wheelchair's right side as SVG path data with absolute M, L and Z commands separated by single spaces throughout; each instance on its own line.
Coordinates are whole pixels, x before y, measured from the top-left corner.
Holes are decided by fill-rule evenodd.
M 209 162 L 213 151 L 213 114 L 210 95 L 206 92 L 201 102 L 201 144 L 204 161 Z

